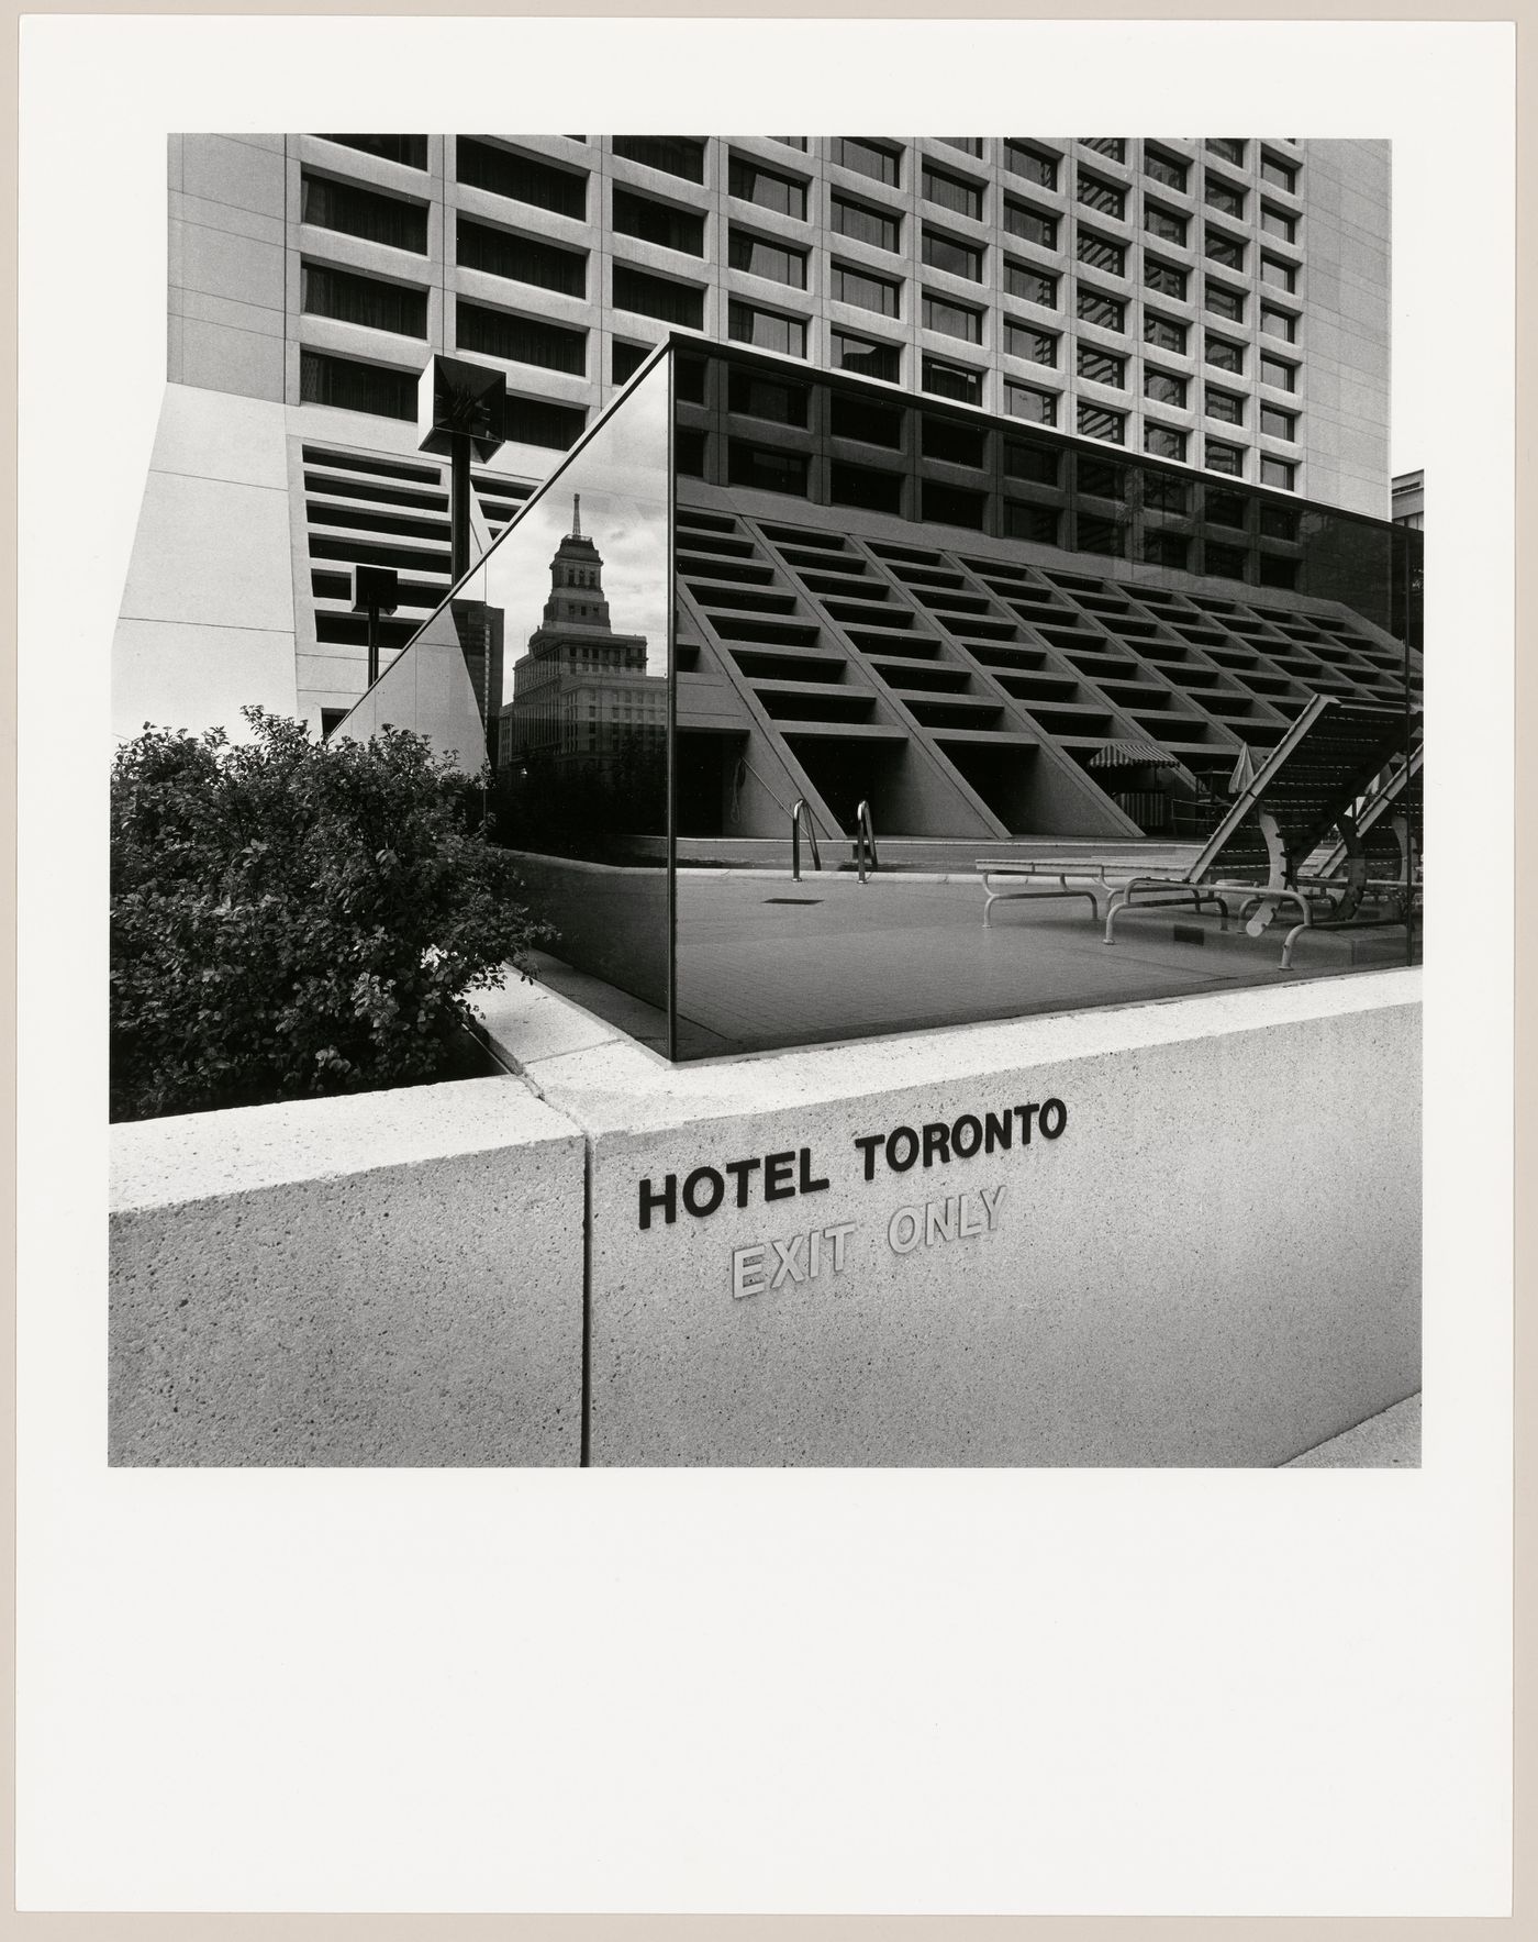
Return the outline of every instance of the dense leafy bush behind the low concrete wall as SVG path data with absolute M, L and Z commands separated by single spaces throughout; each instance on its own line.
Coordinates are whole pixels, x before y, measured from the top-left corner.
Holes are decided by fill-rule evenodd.
M 113 765 L 113 1119 L 443 1076 L 552 932 L 427 742 L 146 726 Z

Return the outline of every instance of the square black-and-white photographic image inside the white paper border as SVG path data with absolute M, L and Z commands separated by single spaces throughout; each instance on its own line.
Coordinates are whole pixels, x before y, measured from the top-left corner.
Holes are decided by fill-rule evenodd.
M 1416 1462 L 1390 144 L 167 167 L 113 1460 Z

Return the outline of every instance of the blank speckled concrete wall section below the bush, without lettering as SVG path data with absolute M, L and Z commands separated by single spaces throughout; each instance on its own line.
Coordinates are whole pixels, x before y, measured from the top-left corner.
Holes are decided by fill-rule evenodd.
M 575 1464 L 585 1142 L 518 1080 L 113 1128 L 113 1464 Z

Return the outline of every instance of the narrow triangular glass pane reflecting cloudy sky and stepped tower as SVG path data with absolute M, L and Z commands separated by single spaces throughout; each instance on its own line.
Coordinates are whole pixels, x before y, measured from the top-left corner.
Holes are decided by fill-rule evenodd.
M 425 734 L 484 781 L 557 930 L 540 971 L 602 981 L 666 1041 L 668 359 L 643 371 L 515 515 L 336 734 Z M 586 983 L 585 983 L 586 981 Z M 592 987 L 596 988 L 596 987 Z

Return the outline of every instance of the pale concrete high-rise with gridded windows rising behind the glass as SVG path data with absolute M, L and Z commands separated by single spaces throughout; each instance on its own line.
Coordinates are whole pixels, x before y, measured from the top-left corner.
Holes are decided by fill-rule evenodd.
M 1388 517 L 1387 142 L 188 134 L 169 208 L 120 732 L 328 724 L 350 565 L 402 575 L 386 651 L 441 602 L 433 352 L 507 375 L 478 548 L 670 330 Z

